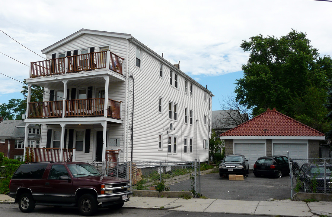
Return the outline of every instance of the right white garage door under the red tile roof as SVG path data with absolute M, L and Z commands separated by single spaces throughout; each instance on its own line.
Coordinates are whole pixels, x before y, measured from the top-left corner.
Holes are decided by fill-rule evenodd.
M 290 158 L 307 158 L 307 144 L 273 143 L 273 155 L 287 156 L 287 151 Z

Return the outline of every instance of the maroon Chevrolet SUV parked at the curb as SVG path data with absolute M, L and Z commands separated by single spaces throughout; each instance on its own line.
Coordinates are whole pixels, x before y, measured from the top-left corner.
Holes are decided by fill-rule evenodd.
M 129 180 L 103 176 L 88 163 L 34 162 L 16 170 L 9 196 L 22 212 L 35 205 L 77 206 L 82 215 L 91 216 L 98 206 L 121 208 L 132 191 Z

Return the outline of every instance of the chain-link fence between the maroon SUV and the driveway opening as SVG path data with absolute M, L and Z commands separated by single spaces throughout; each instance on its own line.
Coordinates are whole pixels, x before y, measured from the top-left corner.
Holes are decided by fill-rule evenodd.
M 192 191 L 200 194 L 199 161 L 89 162 L 104 176 L 129 179 L 133 189 Z

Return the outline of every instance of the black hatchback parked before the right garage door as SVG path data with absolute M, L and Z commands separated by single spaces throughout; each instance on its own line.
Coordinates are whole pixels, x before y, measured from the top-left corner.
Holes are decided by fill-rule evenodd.
M 293 167 L 297 163 L 292 162 Z M 275 176 L 276 178 L 281 178 L 282 175 L 289 175 L 290 168 L 288 163 L 288 158 L 283 155 L 274 155 L 274 156 L 264 156 L 257 159 L 254 164 L 253 173 L 256 177 L 265 175 L 265 176 Z

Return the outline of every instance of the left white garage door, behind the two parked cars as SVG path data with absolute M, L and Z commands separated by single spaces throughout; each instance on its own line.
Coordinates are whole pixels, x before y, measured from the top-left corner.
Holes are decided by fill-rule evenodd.
M 253 169 L 256 160 L 265 156 L 265 144 L 234 143 L 234 154 L 243 154 L 249 161 L 249 168 Z

